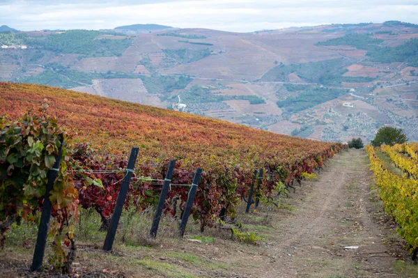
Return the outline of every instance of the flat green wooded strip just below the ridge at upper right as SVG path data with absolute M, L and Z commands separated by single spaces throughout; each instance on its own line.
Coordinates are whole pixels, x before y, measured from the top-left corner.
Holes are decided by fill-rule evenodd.
M 371 36 L 362 33 L 348 33 L 340 38 L 332 38 L 325 42 L 319 42 L 318 46 L 328 45 L 350 45 L 357 49 L 374 50 L 378 48 L 378 45 L 383 43 L 383 40 L 378 38 L 371 38 Z

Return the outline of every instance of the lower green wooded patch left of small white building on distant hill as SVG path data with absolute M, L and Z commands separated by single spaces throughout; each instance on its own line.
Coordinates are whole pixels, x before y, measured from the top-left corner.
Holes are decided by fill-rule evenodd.
M 341 95 L 346 94 L 346 90 L 341 89 L 331 89 L 331 88 L 309 88 L 303 93 L 298 95 L 292 95 L 286 98 L 286 100 L 277 101 L 277 106 L 285 109 L 288 112 L 297 112 L 320 103 L 327 102 L 328 100 L 333 100 L 334 98 L 339 98 Z

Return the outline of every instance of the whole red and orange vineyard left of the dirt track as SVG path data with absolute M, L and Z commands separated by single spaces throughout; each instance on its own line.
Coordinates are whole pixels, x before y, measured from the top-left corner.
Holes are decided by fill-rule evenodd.
M 0 170 L 6 185 L 0 189 L 1 231 L 21 219 L 36 221 L 33 215 L 46 203 L 47 176 L 58 171 L 49 196 L 54 263 L 67 271 L 76 236 L 68 219 L 77 218 L 79 206 L 93 208 L 102 217 L 102 229 L 108 229 L 128 173 L 132 181 L 125 208 L 155 206 L 168 181 L 172 186 L 162 203 L 164 213 L 176 216 L 179 209 L 180 218 L 187 212 L 189 188 L 197 185 L 190 214 L 204 231 L 222 223 L 219 219 L 235 219 L 251 184 L 256 204 L 273 199 L 343 148 L 47 86 L 0 83 L 0 94 L 0 115 L 6 115 L 0 122 Z M 127 167 L 132 146 L 138 147 L 137 160 Z M 61 148 L 60 168 L 54 164 Z M 169 177 L 171 160 L 176 167 Z M 202 169 L 199 184 L 192 183 L 196 169 Z M 66 256 L 61 240 L 70 247 Z

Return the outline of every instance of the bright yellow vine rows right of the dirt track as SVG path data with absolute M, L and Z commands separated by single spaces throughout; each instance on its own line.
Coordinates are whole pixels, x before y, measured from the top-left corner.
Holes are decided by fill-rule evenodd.
M 374 149 L 366 146 L 371 161 L 371 170 L 376 178 L 379 194 L 387 213 L 394 216 L 398 233 L 412 250 L 412 259 L 418 254 L 418 144 L 382 145 Z M 377 153 L 387 155 L 385 162 Z M 399 171 L 390 171 L 387 163 L 393 163 Z

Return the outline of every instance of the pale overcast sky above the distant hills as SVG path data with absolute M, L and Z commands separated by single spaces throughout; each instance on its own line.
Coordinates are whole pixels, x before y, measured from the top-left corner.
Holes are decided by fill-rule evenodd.
M 248 32 L 387 20 L 418 24 L 418 0 L 0 0 L 0 26 L 22 31 L 155 23 Z

